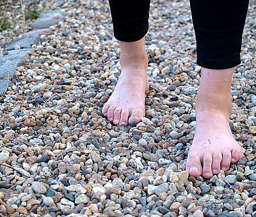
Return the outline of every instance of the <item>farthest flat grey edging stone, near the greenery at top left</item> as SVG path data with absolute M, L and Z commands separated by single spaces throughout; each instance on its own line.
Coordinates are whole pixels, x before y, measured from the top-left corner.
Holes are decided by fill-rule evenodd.
M 65 10 L 51 10 L 43 13 L 35 22 L 30 24 L 30 27 L 34 29 L 45 29 L 52 25 L 58 24 L 61 19 L 65 16 Z

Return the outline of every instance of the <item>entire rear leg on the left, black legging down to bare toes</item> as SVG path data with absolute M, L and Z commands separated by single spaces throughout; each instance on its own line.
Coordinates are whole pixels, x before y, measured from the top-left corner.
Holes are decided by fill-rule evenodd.
M 114 34 L 120 45 L 121 74 L 102 114 L 114 124 L 135 124 L 145 116 L 148 91 L 145 34 L 150 1 L 109 0 Z

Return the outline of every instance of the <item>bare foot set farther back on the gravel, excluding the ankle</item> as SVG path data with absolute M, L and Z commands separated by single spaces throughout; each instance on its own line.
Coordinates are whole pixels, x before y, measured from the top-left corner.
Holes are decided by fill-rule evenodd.
M 145 67 L 125 67 L 115 90 L 102 108 L 102 114 L 114 124 L 133 125 L 145 116 L 145 94 L 148 79 Z

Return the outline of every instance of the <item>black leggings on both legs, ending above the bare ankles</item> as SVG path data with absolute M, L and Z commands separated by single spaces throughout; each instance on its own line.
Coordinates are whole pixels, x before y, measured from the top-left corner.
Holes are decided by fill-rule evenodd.
M 241 41 L 249 0 L 190 0 L 196 35 L 196 63 L 225 69 L 241 63 Z M 148 31 L 150 0 L 109 0 L 114 35 L 138 41 Z

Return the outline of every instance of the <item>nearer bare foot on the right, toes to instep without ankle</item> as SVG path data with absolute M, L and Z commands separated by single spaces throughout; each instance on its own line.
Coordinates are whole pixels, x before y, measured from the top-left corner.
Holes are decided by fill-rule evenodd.
M 189 149 L 186 170 L 190 176 L 209 179 L 221 170 L 228 170 L 243 156 L 231 133 L 227 116 L 218 110 L 200 111 L 196 116 L 196 133 Z

